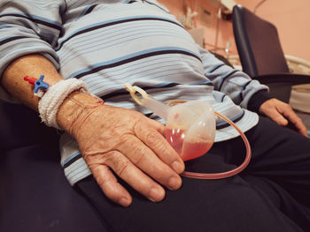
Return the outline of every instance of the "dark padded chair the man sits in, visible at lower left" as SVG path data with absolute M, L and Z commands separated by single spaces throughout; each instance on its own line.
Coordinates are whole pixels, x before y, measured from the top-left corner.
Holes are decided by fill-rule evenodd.
M 59 164 L 58 132 L 0 100 L 0 231 L 105 232 Z

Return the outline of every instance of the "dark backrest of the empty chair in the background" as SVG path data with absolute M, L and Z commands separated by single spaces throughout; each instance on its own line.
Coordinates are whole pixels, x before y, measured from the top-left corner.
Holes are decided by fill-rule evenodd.
M 242 5 L 232 13 L 236 48 L 244 72 L 252 77 L 289 72 L 276 27 Z

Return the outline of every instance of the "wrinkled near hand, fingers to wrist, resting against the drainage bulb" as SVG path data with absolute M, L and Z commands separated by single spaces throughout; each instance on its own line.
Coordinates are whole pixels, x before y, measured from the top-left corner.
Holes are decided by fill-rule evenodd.
M 112 201 L 121 206 L 132 201 L 113 172 L 151 201 L 165 197 L 160 184 L 170 190 L 181 187 L 178 174 L 184 163 L 167 143 L 163 124 L 134 110 L 108 105 L 74 112 L 78 116 L 65 127 L 77 139 L 93 176 Z

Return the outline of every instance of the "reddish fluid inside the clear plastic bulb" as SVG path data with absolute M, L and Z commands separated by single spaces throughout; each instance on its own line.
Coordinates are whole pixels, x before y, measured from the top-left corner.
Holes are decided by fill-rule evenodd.
M 190 161 L 204 155 L 213 146 L 213 141 L 198 140 L 190 141 L 183 144 L 185 131 L 180 129 L 166 129 L 166 139 L 169 144 L 174 147 L 183 161 Z

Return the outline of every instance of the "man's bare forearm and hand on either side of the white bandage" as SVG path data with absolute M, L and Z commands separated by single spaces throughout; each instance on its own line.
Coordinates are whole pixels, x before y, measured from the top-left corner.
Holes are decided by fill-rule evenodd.
M 42 73 L 50 86 L 63 79 L 44 56 L 21 56 L 6 68 L 1 84 L 19 101 L 37 110 L 38 98 L 23 77 L 40 77 Z M 132 201 L 112 170 L 153 201 L 165 197 L 160 184 L 171 190 L 180 188 L 182 180 L 178 174 L 184 163 L 164 138 L 164 125 L 136 111 L 98 103 L 89 94 L 72 94 L 60 106 L 57 120 L 77 139 L 105 195 L 122 206 Z

